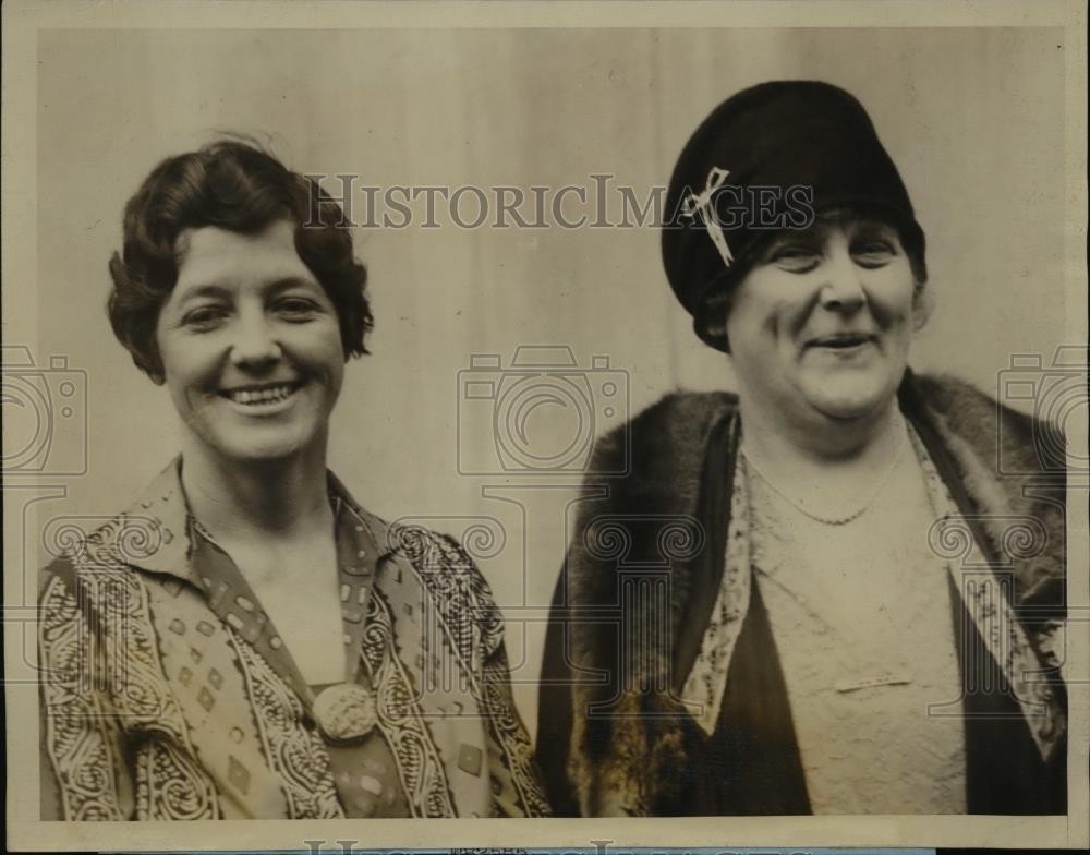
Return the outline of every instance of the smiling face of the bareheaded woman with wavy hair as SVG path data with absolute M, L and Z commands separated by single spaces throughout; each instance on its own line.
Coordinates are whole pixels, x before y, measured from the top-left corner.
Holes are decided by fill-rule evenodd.
M 182 232 L 156 336 L 174 407 L 213 455 L 324 450 L 344 372 L 337 310 L 295 252 L 292 224 Z

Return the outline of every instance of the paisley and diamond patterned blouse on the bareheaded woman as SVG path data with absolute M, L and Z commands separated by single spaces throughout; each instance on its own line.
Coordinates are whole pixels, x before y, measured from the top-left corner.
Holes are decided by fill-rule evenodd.
M 330 746 L 179 466 L 44 573 L 44 819 L 548 815 L 499 610 L 453 540 L 329 477 L 344 643 L 377 707 L 363 742 Z

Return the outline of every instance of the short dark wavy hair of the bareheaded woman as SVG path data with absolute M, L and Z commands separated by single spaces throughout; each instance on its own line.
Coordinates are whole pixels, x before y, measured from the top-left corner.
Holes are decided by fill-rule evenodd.
M 353 254 L 340 205 L 257 143 L 232 137 L 167 158 L 125 205 L 107 312 L 141 371 L 162 381 L 156 326 L 178 282 L 179 234 L 205 226 L 256 234 L 277 220 L 294 224 L 295 251 L 337 309 L 344 358 L 367 352 L 367 269 Z

